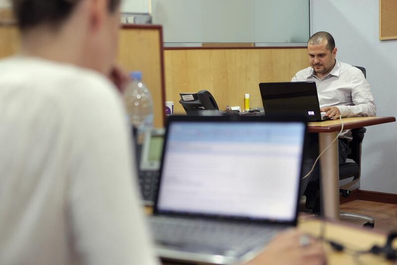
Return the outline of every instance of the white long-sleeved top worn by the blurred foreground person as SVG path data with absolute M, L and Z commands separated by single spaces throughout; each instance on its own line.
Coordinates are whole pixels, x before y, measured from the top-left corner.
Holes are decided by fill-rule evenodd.
M 130 138 L 101 75 L 0 61 L 0 264 L 158 264 Z

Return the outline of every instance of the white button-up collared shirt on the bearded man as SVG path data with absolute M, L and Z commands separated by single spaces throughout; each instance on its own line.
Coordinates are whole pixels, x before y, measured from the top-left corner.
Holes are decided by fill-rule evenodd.
M 371 87 L 360 69 L 346 63 L 336 61 L 331 72 L 322 80 L 312 67 L 296 73 L 292 82 L 314 81 L 317 85 L 320 108 L 336 106 L 342 117 L 375 116 L 376 106 Z M 343 138 L 351 139 L 349 131 Z

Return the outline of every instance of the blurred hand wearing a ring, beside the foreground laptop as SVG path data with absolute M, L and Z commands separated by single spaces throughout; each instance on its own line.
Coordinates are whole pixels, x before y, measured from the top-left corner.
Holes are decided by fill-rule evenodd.
M 326 265 L 326 253 L 319 242 L 297 230 L 279 234 L 264 252 L 246 265 Z

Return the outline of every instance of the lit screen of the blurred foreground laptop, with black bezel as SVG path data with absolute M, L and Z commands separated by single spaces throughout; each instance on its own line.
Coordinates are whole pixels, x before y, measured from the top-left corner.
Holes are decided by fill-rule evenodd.
M 157 211 L 293 221 L 305 126 L 170 121 Z

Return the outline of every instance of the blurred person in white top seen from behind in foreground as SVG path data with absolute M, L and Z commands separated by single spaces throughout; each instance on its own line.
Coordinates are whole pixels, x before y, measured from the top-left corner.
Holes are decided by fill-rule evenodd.
M 0 264 L 159 264 L 116 88 L 120 0 L 12 3 L 22 45 L 0 61 Z M 301 239 L 281 234 L 250 264 L 325 264 Z

